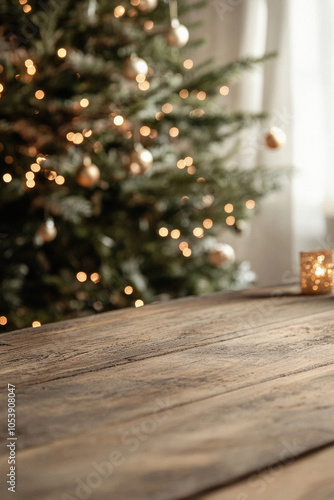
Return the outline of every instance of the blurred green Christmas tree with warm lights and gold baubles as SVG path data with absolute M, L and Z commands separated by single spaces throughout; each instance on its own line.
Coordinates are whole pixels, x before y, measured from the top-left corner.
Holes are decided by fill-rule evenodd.
M 222 233 L 279 181 L 220 94 L 266 57 L 194 64 L 204 5 L 1 2 L 2 331 L 245 283 Z

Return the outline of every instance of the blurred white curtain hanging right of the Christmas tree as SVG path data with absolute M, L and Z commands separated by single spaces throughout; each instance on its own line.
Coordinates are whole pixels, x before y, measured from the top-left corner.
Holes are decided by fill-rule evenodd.
M 334 2 L 333 0 L 213 0 L 208 8 L 209 46 L 220 63 L 277 51 L 278 57 L 244 75 L 228 105 L 266 110 L 270 119 L 244 135 L 239 160 L 294 170 L 282 191 L 270 195 L 249 234 L 227 235 L 240 260 L 249 260 L 260 285 L 298 280 L 299 252 L 334 246 Z M 205 34 L 205 29 L 204 33 Z M 226 99 L 226 98 L 225 98 Z M 287 135 L 281 150 L 268 150 L 265 131 Z

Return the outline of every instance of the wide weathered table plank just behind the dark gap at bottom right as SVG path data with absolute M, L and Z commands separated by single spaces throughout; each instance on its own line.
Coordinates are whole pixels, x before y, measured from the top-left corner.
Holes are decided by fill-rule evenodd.
M 187 498 L 333 442 L 333 417 L 334 367 L 317 368 L 24 450 L 19 498 L 73 500 L 80 480 L 97 500 Z

